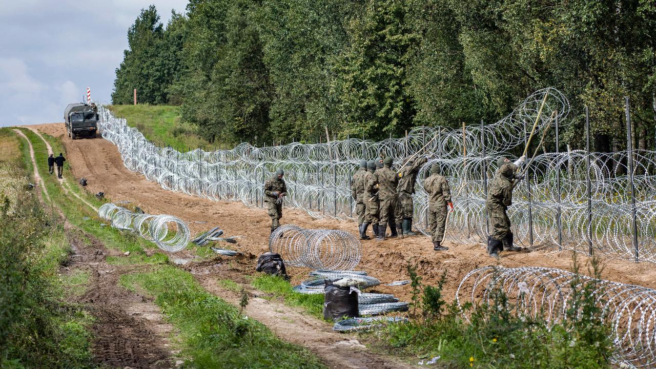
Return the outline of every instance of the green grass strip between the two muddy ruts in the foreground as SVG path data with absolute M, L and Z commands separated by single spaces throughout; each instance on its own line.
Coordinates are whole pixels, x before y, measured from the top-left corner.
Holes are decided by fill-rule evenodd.
M 206 292 L 192 274 L 162 266 L 126 274 L 120 283 L 138 286 L 155 297 L 167 319 L 180 331 L 182 355 L 190 368 L 324 368 L 306 349 L 285 343 L 256 320 Z

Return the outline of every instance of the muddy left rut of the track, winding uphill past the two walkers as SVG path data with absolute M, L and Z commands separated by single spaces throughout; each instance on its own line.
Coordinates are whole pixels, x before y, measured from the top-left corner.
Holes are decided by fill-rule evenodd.
M 34 131 L 31 128 L 30 130 Z M 14 129 L 14 131 L 28 142 L 34 168 L 33 177 L 41 185 L 51 202 L 43 179 L 39 175 L 30 139 L 19 129 Z M 49 143 L 43 137 L 41 139 L 45 142 L 49 152 L 52 152 Z M 66 190 L 66 193 L 72 193 L 83 200 L 72 191 Z M 87 205 L 90 204 L 87 203 Z M 57 208 L 55 207 L 55 209 Z M 178 351 L 172 350 L 173 347 L 169 341 L 169 336 L 174 332 L 173 326 L 163 321 L 159 307 L 151 301 L 150 297 L 131 292 L 118 285 L 121 275 L 143 272 L 144 266 L 109 265 L 106 262 L 108 253 L 117 255 L 121 255 L 121 253 L 115 250 L 108 251 L 102 242 L 69 223 L 60 209 L 57 211 L 64 219 L 66 239 L 74 251 L 66 267 L 62 268 L 62 272 L 81 270 L 90 274 L 86 292 L 69 300 L 82 303 L 96 318 L 92 326 L 95 337 L 92 343 L 94 360 L 102 367 L 174 368 L 176 366 L 174 355 Z M 81 237 L 87 238 L 90 244 L 82 242 Z

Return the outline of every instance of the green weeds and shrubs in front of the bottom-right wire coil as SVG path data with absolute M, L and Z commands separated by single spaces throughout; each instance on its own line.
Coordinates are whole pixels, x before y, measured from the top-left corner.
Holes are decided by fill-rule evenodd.
M 426 288 L 419 283 L 415 268 L 409 266 L 408 270 L 415 286 L 413 301 L 421 301 L 424 310 L 409 323 L 368 334 L 380 349 L 439 356 L 441 363 L 457 368 L 611 367 L 611 328 L 596 305 L 594 286 L 575 291 L 567 319 L 551 328 L 544 320 L 524 315 L 500 290 L 493 291 L 489 305 L 464 307 L 470 316 L 466 322 L 455 302 L 443 303 L 441 284 Z M 592 274 L 600 274 L 597 261 L 592 263 Z

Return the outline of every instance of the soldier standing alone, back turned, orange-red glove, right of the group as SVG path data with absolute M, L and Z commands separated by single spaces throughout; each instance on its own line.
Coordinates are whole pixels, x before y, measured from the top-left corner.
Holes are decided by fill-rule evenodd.
M 445 251 L 449 248 L 440 243 L 447 223 L 447 205 L 453 209 L 451 188 L 447 179 L 440 175 L 440 164 L 433 164 L 430 173 L 430 177 L 424 180 L 424 188 L 428 192 L 428 231 L 433 240 L 433 250 Z

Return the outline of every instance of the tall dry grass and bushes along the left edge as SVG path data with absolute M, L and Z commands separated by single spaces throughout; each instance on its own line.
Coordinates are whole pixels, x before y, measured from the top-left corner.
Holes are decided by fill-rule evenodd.
M 24 190 L 20 165 L 0 163 L 0 170 L 0 367 L 91 367 L 92 318 L 62 302 L 58 270 L 70 253 L 64 228 L 43 211 L 37 189 Z M 10 198 L 21 206 L 9 211 Z

